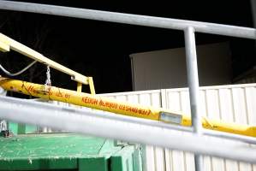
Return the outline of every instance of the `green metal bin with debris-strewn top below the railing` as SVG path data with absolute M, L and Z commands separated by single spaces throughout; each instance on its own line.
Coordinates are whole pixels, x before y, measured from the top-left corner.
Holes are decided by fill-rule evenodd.
M 0 170 L 141 171 L 140 146 L 73 133 L 0 138 Z

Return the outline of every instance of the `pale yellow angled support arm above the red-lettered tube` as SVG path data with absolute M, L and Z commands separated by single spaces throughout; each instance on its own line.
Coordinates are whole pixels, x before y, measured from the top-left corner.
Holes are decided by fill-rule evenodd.
M 44 63 L 45 65 L 48 65 L 51 68 L 55 68 L 58 71 L 61 71 L 62 73 L 68 74 L 71 76 L 71 80 L 78 82 L 78 85 L 80 86 L 80 87 L 77 87 L 78 90 L 79 89 L 81 90 L 81 84 L 89 85 L 91 93 L 95 94 L 94 85 L 93 85 L 92 79 L 90 79 L 92 77 L 86 77 L 69 68 L 66 68 L 63 65 L 57 62 L 54 62 L 51 59 L 43 56 L 39 52 L 32 50 L 26 45 L 21 44 L 15 41 L 14 39 L 5 36 L 3 33 L 0 33 L 0 50 L 3 52 L 7 52 L 9 50 L 15 50 L 16 52 L 19 52 L 22 55 L 27 56 L 37 62 Z

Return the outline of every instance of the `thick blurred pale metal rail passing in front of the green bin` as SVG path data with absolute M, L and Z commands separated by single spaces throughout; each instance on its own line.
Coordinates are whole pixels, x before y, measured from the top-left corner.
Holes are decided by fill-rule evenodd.
M 0 97 L 0 109 L 0 118 L 9 121 L 36 124 L 110 139 L 122 139 L 134 143 L 153 144 L 165 148 L 186 150 L 195 154 L 256 162 L 256 150 L 248 147 L 247 144 L 209 138 L 208 136 L 199 137 L 193 133 L 171 132 L 170 129 L 163 127 L 119 121 L 109 117 L 108 114 L 100 117 L 100 111 L 60 107 L 13 97 Z

